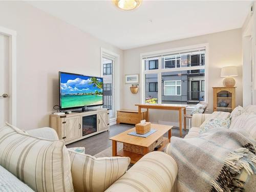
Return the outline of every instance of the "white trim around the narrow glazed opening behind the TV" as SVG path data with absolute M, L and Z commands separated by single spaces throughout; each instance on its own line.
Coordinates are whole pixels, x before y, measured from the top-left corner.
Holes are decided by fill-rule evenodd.
M 102 63 L 102 57 L 103 55 L 106 55 L 108 57 L 113 58 L 113 65 L 112 65 L 112 94 L 113 94 L 113 105 L 112 105 L 112 109 L 114 112 L 114 117 L 116 118 L 117 114 L 116 111 L 119 110 L 120 106 L 118 104 L 118 102 L 120 103 L 120 93 L 117 90 L 120 90 L 120 73 L 118 73 L 117 68 L 119 69 L 120 66 L 120 55 L 118 55 L 117 53 L 114 53 L 110 50 L 104 49 L 104 48 L 100 48 L 100 76 L 103 76 L 103 63 Z M 118 83 L 119 82 L 119 83 Z M 116 89 L 117 88 L 117 89 Z

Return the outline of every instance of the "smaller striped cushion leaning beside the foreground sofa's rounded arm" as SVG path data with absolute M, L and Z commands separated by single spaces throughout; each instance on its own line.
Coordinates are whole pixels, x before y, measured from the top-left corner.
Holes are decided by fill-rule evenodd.
M 104 191 L 127 170 L 129 157 L 95 158 L 68 150 L 73 185 L 79 191 Z

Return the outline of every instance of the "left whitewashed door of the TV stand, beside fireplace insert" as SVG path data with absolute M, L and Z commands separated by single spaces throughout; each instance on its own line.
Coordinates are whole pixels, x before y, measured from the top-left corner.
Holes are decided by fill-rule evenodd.
M 80 138 L 80 116 L 67 117 L 65 118 L 66 123 L 64 123 L 64 133 L 65 141 L 68 142 L 73 139 Z

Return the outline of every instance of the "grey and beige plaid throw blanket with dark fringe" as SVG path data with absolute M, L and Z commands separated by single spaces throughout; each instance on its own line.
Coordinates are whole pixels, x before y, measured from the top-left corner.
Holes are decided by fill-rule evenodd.
M 243 191 L 247 176 L 256 174 L 255 141 L 246 133 L 215 128 L 196 138 L 172 137 L 168 146 L 179 191 Z

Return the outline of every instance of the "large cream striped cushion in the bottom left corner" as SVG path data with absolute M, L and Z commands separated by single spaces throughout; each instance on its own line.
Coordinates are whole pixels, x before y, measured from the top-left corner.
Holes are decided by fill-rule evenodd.
M 36 138 L 8 124 L 0 128 L 0 164 L 35 191 L 74 191 L 61 140 Z

